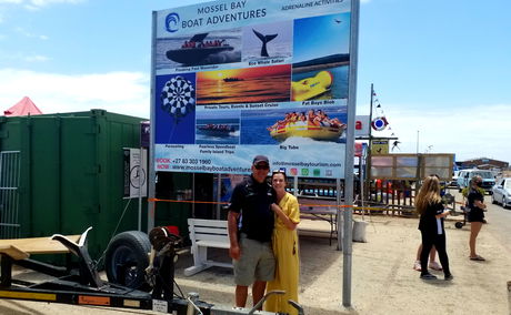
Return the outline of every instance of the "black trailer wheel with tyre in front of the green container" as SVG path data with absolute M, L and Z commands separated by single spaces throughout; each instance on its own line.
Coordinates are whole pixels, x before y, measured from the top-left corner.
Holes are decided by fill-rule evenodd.
M 143 288 L 150 251 L 151 243 L 143 232 L 127 231 L 116 235 L 106 253 L 108 281 L 131 288 Z

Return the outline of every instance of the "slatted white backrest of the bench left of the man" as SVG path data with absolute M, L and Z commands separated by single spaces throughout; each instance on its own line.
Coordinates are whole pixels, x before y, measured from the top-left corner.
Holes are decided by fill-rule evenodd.
M 190 231 L 190 240 L 192 243 L 197 241 L 229 243 L 227 221 L 189 219 L 188 230 Z

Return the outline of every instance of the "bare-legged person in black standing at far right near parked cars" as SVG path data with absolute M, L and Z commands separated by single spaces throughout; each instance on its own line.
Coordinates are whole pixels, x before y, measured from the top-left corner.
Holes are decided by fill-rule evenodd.
M 481 231 L 484 222 L 484 211 L 487 205 L 484 204 L 484 195 L 480 192 L 479 187 L 482 185 L 482 177 L 475 175 L 470 181 L 470 190 L 467 196 L 468 207 L 468 220 L 470 222 L 470 256 L 471 261 L 484 261 L 484 258 L 475 253 L 475 240 Z

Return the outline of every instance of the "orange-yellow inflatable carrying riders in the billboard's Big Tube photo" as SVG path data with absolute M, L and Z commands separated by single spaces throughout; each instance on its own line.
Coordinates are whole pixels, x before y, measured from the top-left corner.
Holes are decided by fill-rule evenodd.
M 337 141 L 347 125 L 339 119 L 330 119 L 322 110 L 287 113 L 283 120 L 268 128 L 271 138 L 283 142 L 291 136 L 310 138 L 321 141 Z

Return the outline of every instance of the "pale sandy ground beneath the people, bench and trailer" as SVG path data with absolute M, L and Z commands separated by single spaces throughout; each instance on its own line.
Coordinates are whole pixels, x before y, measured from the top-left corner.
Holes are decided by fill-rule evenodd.
M 448 254 L 454 275 L 444 282 L 424 282 L 412 270 L 420 233 L 417 219 L 365 216 L 367 243 L 353 243 L 351 307 L 342 306 L 342 252 L 323 237 L 300 236 L 300 304 L 305 314 L 511 314 L 507 283 L 511 281 L 511 247 L 494 230 L 493 211 L 511 215 L 511 210 L 491 205 L 478 238 L 479 252 L 485 262 L 468 260 L 468 226 L 454 227 L 454 219 L 445 223 Z M 509 217 L 508 215 L 508 217 Z M 355 215 L 355 220 L 361 220 Z M 510 221 L 511 222 L 511 219 Z M 325 222 L 303 221 L 302 228 L 328 231 Z M 508 230 L 509 231 L 509 230 Z M 509 232 L 508 232 L 509 233 Z M 302 233 L 304 234 L 304 233 Z M 211 256 L 229 261 L 227 251 L 211 251 Z M 191 256 L 180 257 L 176 277 L 182 292 L 198 292 L 200 298 L 213 304 L 233 303 L 232 271 L 213 267 L 190 277 L 183 270 Z M 23 301 L 0 299 L 0 314 L 159 314 L 150 311 L 112 311 Z

